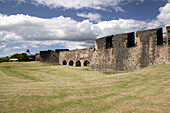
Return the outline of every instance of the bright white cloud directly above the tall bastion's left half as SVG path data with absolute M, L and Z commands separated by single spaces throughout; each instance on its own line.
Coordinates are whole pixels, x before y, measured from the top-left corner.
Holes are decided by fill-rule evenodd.
M 110 20 L 102 21 L 94 25 L 94 31 L 98 34 L 98 37 L 103 37 L 106 35 L 134 32 L 142 29 L 146 25 L 146 22 L 133 19 Z

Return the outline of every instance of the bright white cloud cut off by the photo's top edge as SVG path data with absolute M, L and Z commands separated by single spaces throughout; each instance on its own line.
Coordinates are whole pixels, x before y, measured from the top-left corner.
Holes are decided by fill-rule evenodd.
M 93 9 L 102 9 L 110 5 L 116 6 L 120 0 L 33 0 L 37 4 L 46 5 L 50 8 L 64 7 L 69 8 L 93 8 Z M 105 2 L 104 2 L 105 1 Z

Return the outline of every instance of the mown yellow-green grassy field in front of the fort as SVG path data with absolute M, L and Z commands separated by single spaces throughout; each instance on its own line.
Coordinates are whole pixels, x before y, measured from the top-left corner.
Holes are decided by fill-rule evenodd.
M 0 63 L 0 112 L 170 112 L 170 64 L 133 72 Z

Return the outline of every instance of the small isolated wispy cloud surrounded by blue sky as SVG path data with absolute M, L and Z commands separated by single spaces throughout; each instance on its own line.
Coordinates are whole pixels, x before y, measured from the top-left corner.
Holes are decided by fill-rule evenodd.
M 84 18 L 88 18 L 90 21 L 95 21 L 95 22 L 99 22 L 101 21 L 101 15 L 98 13 L 77 13 L 77 16 L 79 17 L 84 17 Z

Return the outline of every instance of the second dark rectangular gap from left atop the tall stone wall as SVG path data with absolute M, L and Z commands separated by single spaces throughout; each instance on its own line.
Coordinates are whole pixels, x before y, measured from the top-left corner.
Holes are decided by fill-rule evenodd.
M 134 47 L 134 46 L 135 46 L 135 34 L 130 33 L 128 34 L 127 47 Z

